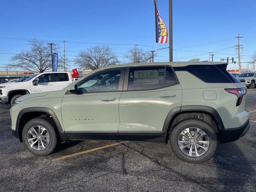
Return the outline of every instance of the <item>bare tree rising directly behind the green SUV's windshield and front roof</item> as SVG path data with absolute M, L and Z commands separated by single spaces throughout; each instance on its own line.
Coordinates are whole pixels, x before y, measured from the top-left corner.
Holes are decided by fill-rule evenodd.
M 74 63 L 82 69 L 95 70 L 105 66 L 116 65 L 118 64 L 118 59 L 109 46 L 103 45 L 81 50 Z

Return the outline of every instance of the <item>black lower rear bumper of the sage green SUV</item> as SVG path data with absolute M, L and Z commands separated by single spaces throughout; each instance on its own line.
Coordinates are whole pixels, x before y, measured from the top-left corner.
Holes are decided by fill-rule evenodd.
M 238 128 L 220 130 L 219 141 L 220 143 L 227 143 L 238 140 L 244 136 L 250 128 L 250 120 L 248 119 L 245 124 Z

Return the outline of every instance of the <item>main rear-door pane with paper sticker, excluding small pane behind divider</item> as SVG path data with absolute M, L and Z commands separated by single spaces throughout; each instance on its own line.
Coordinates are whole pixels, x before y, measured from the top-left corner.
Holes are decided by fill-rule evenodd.
M 164 87 L 164 66 L 130 68 L 128 90 Z

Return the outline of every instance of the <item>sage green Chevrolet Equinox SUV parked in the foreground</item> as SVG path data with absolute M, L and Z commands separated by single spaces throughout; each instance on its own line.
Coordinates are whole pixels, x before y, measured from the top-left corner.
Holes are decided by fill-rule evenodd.
M 33 154 L 66 140 L 169 143 L 200 163 L 244 136 L 246 86 L 217 62 L 154 62 L 94 70 L 60 91 L 28 94 L 10 109 L 12 132 Z

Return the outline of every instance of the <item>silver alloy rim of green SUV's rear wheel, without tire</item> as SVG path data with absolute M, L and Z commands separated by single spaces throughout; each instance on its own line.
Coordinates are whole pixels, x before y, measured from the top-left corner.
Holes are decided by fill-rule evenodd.
M 200 128 L 186 128 L 178 136 L 178 146 L 180 150 L 191 157 L 203 155 L 208 150 L 209 145 L 209 137 L 206 132 Z

